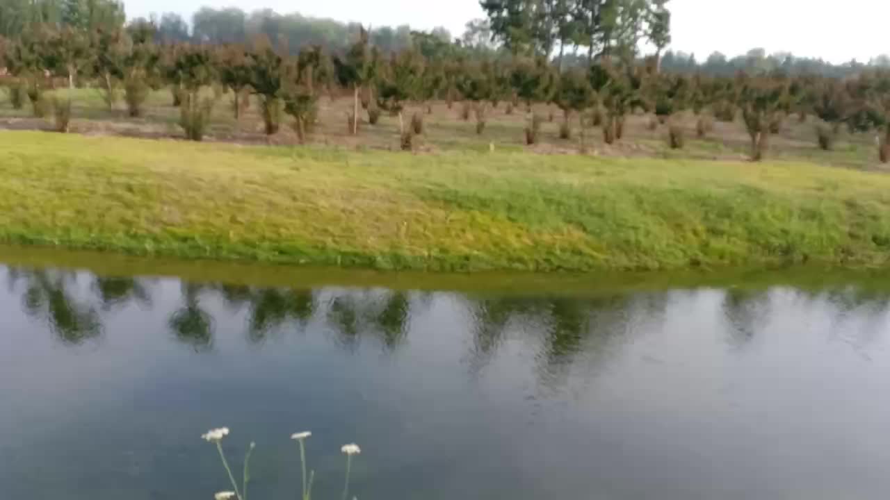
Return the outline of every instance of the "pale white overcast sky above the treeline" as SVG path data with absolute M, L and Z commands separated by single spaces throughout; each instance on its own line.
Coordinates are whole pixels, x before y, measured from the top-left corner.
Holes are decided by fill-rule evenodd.
M 129 17 L 152 12 L 178 12 L 187 20 L 198 8 L 269 7 L 278 12 L 374 26 L 410 24 L 414 28 L 448 28 L 455 36 L 467 20 L 482 17 L 478 0 L 125 0 Z M 833 62 L 868 61 L 890 52 L 888 0 L 671 0 L 674 13 L 672 48 L 694 52 L 699 60 L 710 52 L 733 56 L 754 47 L 788 51 Z

